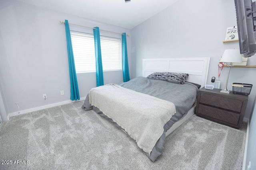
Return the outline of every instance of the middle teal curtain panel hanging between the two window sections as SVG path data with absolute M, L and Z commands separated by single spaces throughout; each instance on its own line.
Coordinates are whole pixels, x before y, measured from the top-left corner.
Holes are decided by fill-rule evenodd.
M 95 46 L 95 61 L 96 61 L 96 84 L 98 86 L 104 85 L 103 69 L 102 69 L 102 59 L 101 59 L 101 49 L 100 49 L 100 29 L 99 27 L 94 27 L 94 46 Z

